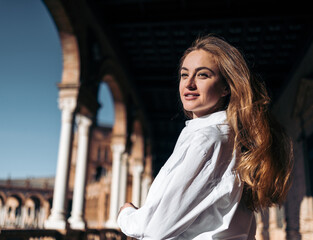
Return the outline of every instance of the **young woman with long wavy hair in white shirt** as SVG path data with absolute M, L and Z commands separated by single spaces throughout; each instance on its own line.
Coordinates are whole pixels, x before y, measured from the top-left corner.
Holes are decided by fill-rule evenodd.
M 180 64 L 186 122 L 146 203 L 125 203 L 121 230 L 138 239 L 255 239 L 254 211 L 281 205 L 291 144 L 240 52 L 208 35 Z

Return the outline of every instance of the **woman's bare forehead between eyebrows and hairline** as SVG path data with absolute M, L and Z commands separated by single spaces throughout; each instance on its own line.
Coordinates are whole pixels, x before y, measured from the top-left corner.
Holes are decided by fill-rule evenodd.
M 217 68 L 217 63 L 216 63 L 216 57 L 207 51 L 204 51 L 202 49 L 200 50 L 195 50 L 187 54 L 185 57 L 182 67 L 214 67 Z

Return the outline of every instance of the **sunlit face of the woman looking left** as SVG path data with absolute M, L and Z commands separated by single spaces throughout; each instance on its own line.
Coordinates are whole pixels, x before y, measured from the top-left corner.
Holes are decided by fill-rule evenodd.
M 179 93 L 193 118 L 219 110 L 220 99 L 228 94 L 214 56 L 204 50 L 189 53 L 180 70 Z

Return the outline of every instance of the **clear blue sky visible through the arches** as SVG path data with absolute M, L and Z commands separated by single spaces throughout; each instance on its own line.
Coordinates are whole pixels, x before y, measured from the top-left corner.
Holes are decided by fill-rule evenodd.
M 58 33 L 42 1 L 1 0 L 0 179 L 55 175 L 61 75 Z M 101 96 L 100 121 L 111 123 L 105 86 Z

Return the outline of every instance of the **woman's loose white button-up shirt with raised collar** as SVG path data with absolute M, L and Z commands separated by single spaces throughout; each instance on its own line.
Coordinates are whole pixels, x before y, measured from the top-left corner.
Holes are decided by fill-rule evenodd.
M 144 206 L 119 214 L 122 232 L 145 240 L 255 239 L 233 146 L 225 111 L 187 121 Z

